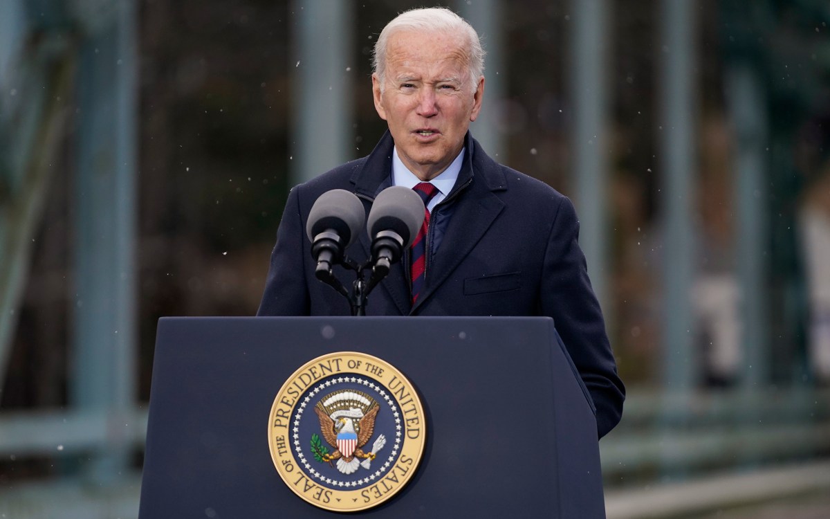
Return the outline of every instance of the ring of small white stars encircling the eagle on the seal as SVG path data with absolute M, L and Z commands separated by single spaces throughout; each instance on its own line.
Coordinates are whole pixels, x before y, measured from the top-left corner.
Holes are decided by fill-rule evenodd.
M 386 462 L 383 463 L 381 468 L 378 468 L 377 471 L 373 472 L 367 477 L 359 479 L 357 481 L 339 481 L 337 479 L 332 479 L 330 477 L 325 477 L 320 472 L 311 466 L 311 463 L 305 459 L 305 453 L 303 453 L 303 449 L 300 447 L 300 418 L 302 418 L 302 414 L 305 411 L 305 408 L 309 406 L 311 399 L 313 399 L 320 391 L 324 391 L 325 389 L 330 388 L 333 384 L 343 384 L 345 382 L 351 382 L 353 384 L 363 384 L 364 386 L 368 387 L 369 389 L 374 389 L 377 393 L 386 400 L 386 403 L 389 406 L 389 409 L 392 411 L 392 415 L 395 417 L 395 444 L 392 447 L 392 453 L 389 454 Z M 320 482 L 325 482 L 325 484 L 330 485 L 331 487 L 359 487 L 360 485 L 365 485 L 366 483 L 373 482 L 378 477 L 383 475 L 383 471 L 388 469 L 394 463 L 395 457 L 398 456 L 398 450 L 401 447 L 401 416 L 398 413 L 398 408 L 395 407 L 395 404 L 389 394 L 383 389 L 383 386 L 374 384 L 371 380 L 361 379 L 359 377 L 338 377 L 336 379 L 329 379 L 326 380 L 325 383 L 319 384 L 314 389 L 311 389 L 308 394 L 305 395 L 305 399 L 300 402 L 300 405 L 297 407 L 296 414 L 294 415 L 294 428 L 293 428 L 293 436 L 294 436 L 294 448 L 297 452 L 297 458 L 299 458 L 300 463 L 305 467 L 305 470 L 315 479 Z

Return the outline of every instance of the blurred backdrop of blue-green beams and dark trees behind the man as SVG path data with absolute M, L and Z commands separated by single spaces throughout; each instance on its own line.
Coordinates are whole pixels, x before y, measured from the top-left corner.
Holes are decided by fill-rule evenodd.
M 392 0 L 0 1 L 0 517 L 137 517 L 160 316 L 251 316 L 385 128 Z M 830 517 L 830 3 L 456 0 L 491 156 L 576 203 L 608 517 Z

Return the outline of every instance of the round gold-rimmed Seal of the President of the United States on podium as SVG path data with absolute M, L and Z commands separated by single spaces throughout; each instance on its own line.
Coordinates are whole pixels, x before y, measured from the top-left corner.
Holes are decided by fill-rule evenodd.
M 295 494 L 335 512 L 375 507 L 421 461 L 427 427 L 413 385 L 372 355 L 311 360 L 276 394 L 268 447 Z

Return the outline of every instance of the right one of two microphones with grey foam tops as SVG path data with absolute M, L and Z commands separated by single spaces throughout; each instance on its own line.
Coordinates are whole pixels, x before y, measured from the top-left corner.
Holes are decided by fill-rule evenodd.
M 369 211 L 366 230 L 372 238 L 374 274 L 384 277 L 415 241 L 423 223 L 423 201 L 412 189 L 392 186 L 378 194 Z

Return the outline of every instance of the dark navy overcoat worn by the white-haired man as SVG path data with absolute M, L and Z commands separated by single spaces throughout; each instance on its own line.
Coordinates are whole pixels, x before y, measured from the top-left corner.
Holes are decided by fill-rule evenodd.
M 306 219 L 330 189 L 357 194 L 368 214 L 374 197 L 391 183 L 392 153 L 387 132 L 369 156 L 291 190 L 257 315 L 349 315 L 348 301 L 315 278 Z M 588 280 L 570 200 L 497 164 L 468 133 L 461 173 L 433 209 L 432 222 L 442 245 L 430 255 L 417 304 L 410 304 L 404 262 L 398 262 L 369 295 L 366 315 L 550 316 L 593 399 L 598 435 L 608 433 L 622 414 L 625 389 Z M 361 233 L 346 253 L 364 262 L 369 246 Z M 343 267 L 335 273 L 347 285 L 354 280 L 354 272 Z

